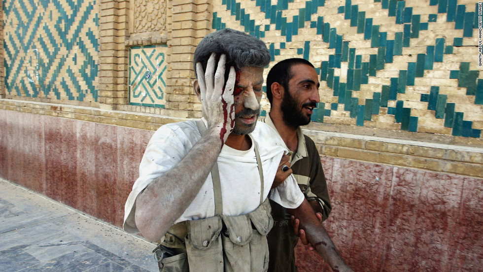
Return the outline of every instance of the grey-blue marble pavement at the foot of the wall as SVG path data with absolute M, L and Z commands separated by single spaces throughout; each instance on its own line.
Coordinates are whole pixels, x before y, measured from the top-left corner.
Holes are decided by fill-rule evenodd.
M 1 272 L 157 272 L 154 247 L 0 179 Z

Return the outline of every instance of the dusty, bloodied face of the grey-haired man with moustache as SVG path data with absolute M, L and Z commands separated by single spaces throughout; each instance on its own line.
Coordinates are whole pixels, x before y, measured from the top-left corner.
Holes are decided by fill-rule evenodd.
M 233 133 L 246 135 L 255 129 L 260 115 L 263 68 L 242 67 L 237 71 L 233 96 L 235 99 L 235 127 Z

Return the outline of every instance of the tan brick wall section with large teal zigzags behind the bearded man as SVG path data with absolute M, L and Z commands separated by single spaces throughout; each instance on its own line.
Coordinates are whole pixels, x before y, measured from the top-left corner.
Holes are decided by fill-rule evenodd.
M 214 29 L 261 38 L 273 61 L 315 65 L 323 84 L 313 121 L 482 136 L 476 1 L 215 2 Z

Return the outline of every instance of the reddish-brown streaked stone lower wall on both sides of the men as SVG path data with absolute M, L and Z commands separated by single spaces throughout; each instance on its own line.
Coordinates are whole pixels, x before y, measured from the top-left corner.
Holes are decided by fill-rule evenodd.
M 120 226 L 153 132 L 0 110 L 0 177 Z M 322 157 L 355 271 L 483 271 L 483 179 Z M 298 248 L 301 272 L 330 271 Z M 325 268 L 324 268 L 325 267 Z

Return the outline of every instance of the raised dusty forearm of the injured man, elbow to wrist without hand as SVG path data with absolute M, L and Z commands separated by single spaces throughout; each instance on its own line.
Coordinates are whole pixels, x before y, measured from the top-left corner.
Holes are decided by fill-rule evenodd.
M 173 169 L 154 179 L 138 195 L 136 225 L 144 238 L 159 242 L 196 197 L 220 149 L 219 130 L 208 130 Z

